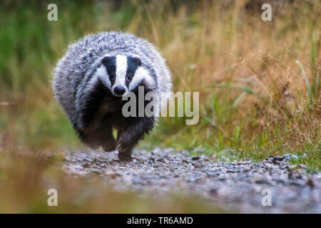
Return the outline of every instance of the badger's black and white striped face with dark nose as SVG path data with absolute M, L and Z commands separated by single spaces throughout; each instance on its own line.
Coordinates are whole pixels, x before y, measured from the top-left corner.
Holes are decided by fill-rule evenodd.
M 95 78 L 100 78 L 113 95 L 121 97 L 134 90 L 143 80 L 151 81 L 141 60 L 133 56 L 104 56 Z

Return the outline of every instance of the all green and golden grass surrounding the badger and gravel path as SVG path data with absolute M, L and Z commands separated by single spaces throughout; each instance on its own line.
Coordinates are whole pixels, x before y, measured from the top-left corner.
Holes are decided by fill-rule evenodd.
M 48 21 L 54 2 L 58 21 Z M 83 199 L 63 199 L 70 206 L 59 212 L 217 212 L 175 199 L 156 210 L 149 199 L 105 191 L 98 177 L 88 183 L 57 170 L 62 150 L 83 145 L 54 100 L 52 71 L 69 43 L 100 31 L 148 39 L 167 59 L 174 90 L 200 92 L 198 125 L 162 118 L 141 147 L 213 160 L 292 152 L 306 155 L 292 162 L 320 171 L 321 2 L 267 2 L 272 21 L 261 20 L 260 1 L 1 1 L 0 212 L 48 212 L 37 198 L 46 197 L 44 182 Z

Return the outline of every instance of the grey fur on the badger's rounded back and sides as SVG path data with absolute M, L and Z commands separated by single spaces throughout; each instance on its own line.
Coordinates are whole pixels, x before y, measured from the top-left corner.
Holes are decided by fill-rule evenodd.
M 78 133 L 86 131 L 86 128 L 88 128 L 88 126 L 83 123 L 82 118 L 83 108 L 88 104 L 89 99 L 86 86 L 90 83 L 93 74 L 96 73 L 96 69 L 101 66 L 101 59 L 106 55 L 137 56 L 140 58 L 142 67 L 145 68 L 153 78 L 153 83 L 151 83 L 153 86 L 151 86 L 150 89 L 155 91 L 159 95 L 159 98 L 161 98 L 161 92 L 170 92 L 172 88 L 170 71 L 165 64 L 165 60 L 156 48 L 143 38 L 138 38 L 129 33 L 113 31 L 85 36 L 76 41 L 76 43 L 71 44 L 65 56 L 58 61 L 54 71 L 54 81 L 52 85 L 58 103 L 60 103 L 63 110 L 66 111 L 69 120 L 71 120 L 73 124 L 73 128 L 75 128 Z M 162 100 L 161 107 L 163 107 L 166 102 L 167 100 Z M 102 109 L 102 106 L 105 107 L 105 109 Z M 102 104 L 99 111 L 97 110 L 98 114 L 95 115 L 95 118 L 97 118 L 98 115 L 113 112 L 110 106 L 114 105 L 108 106 Z M 116 119 L 113 118 L 111 120 L 116 121 Z M 113 126 L 113 123 L 101 123 L 101 119 L 96 119 L 96 122 L 98 122 L 98 125 L 107 126 L 104 128 Z M 142 123 L 145 122 L 143 121 Z M 138 125 L 141 125 L 141 123 Z M 101 133 L 98 136 L 102 137 L 103 129 L 100 131 Z M 145 133 L 148 133 L 148 131 L 149 130 L 146 130 Z M 96 132 L 93 130 L 91 132 L 92 137 L 94 137 L 97 132 L 98 130 L 96 130 Z M 143 135 L 145 135 L 145 133 Z M 101 142 L 101 140 L 99 142 Z M 133 144 L 136 144 L 138 140 L 134 140 L 135 142 L 133 142 Z M 83 141 L 86 142 L 86 140 Z M 117 143 L 119 144 L 120 141 L 119 139 Z M 133 147 L 132 145 L 130 146 Z

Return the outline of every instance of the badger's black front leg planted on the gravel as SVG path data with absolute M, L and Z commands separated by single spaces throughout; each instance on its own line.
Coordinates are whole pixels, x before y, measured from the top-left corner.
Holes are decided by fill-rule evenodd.
M 138 117 L 126 119 L 125 127 L 117 133 L 118 158 L 121 161 L 130 161 L 133 148 L 139 140 L 143 139 L 152 129 L 154 118 Z

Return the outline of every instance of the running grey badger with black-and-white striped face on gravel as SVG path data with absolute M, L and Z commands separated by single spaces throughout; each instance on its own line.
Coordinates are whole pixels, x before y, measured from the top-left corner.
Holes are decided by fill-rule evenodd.
M 118 150 L 131 160 L 133 148 L 158 120 L 158 115 L 125 117 L 128 93 L 156 93 L 156 106 L 166 105 L 172 84 L 164 58 L 153 44 L 130 33 L 90 34 L 68 46 L 56 64 L 54 95 L 68 115 L 78 138 L 88 147 Z M 164 99 L 165 97 L 165 99 Z M 144 101 L 146 107 L 148 101 Z M 113 130 L 117 131 L 116 138 Z

